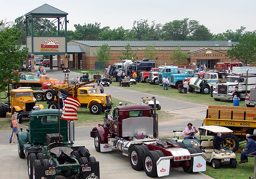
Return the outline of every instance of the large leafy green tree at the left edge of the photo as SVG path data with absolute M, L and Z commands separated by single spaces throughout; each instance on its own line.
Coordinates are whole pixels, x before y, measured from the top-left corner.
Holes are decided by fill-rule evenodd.
M 5 90 L 6 82 L 19 81 L 18 73 L 13 70 L 21 70 L 28 52 L 26 47 L 21 49 L 21 43 L 17 43 L 21 34 L 13 27 L 0 30 L 0 91 Z

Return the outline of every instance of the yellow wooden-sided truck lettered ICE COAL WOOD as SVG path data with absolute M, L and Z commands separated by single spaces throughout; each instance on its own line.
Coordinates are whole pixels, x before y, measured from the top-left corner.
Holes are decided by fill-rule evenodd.
M 230 145 L 225 143 L 226 146 L 237 151 L 246 134 L 251 134 L 256 140 L 256 108 L 208 106 L 202 125 L 224 126 L 233 130 L 231 136 L 224 134 L 222 138 L 230 141 Z

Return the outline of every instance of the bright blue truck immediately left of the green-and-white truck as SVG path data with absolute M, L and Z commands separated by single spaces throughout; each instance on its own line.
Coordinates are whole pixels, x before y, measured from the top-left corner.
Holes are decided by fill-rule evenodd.
M 184 69 L 183 73 L 172 74 L 170 77 L 170 86 L 178 88 L 178 86 L 182 85 L 182 81 L 185 78 L 193 77 L 194 70 Z

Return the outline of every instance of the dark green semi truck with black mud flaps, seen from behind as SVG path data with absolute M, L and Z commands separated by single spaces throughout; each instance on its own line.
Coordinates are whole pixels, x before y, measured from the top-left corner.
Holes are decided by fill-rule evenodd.
M 29 127 L 17 132 L 18 154 L 27 156 L 29 179 L 100 179 L 99 162 L 85 146 L 74 146 L 74 121 L 61 115 L 62 110 L 31 111 Z

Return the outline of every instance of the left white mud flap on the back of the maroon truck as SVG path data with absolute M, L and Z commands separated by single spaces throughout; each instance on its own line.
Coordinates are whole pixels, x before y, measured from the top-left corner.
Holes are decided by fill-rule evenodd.
M 167 176 L 170 172 L 170 157 L 161 157 L 156 162 L 158 177 Z

